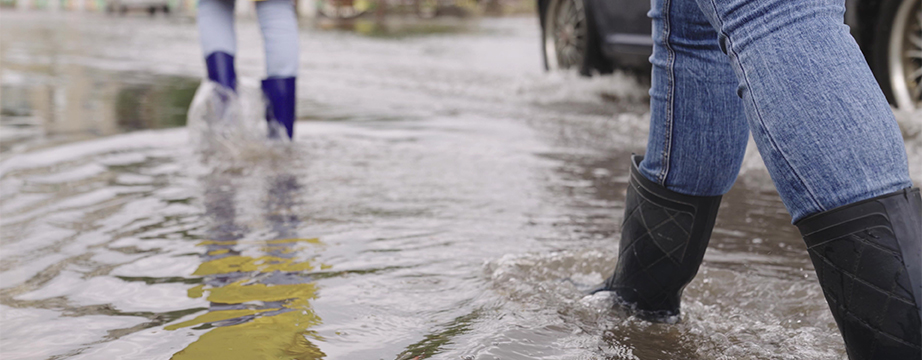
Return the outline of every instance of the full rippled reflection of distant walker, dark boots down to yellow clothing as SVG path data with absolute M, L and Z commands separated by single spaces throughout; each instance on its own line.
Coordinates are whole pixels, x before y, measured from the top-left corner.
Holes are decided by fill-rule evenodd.
M 282 174 L 268 179 L 265 219 L 275 239 L 265 241 L 241 239 L 245 229 L 235 222 L 231 179 L 211 174 L 203 180 L 213 240 L 199 244 L 206 248 L 204 261 L 192 275 L 203 276 L 204 283 L 189 289 L 188 295 L 205 296 L 211 306 L 207 313 L 166 329 L 211 330 L 173 359 L 323 358 L 310 340 L 322 339 L 307 330 L 320 324 L 310 305 L 317 298 L 317 286 L 305 275 L 317 266 L 297 258 L 300 250 L 321 242 L 294 237 L 299 223 L 293 213 L 294 195 L 300 189 L 297 178 Z

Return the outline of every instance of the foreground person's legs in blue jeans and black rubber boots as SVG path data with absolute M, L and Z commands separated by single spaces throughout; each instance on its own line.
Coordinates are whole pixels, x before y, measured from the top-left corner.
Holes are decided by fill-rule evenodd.
M 845 0 L 652 0 L 647 152 L 604 289 L 672 321 L 751 132 L 852 359 L 922 356 L 922 200 Z

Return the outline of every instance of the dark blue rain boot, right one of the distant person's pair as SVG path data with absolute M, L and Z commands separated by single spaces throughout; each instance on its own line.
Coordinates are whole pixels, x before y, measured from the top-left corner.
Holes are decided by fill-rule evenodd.
M 266 121 L 269 122 L 269 137 L 279 138 L 279 128 L 284 127 L 288 139 L 294 137 L 295 125 L 295 77 L 268 78 L 262 81 L 266 95 Z M 279 126 L 280 125 L 280 126 Z

